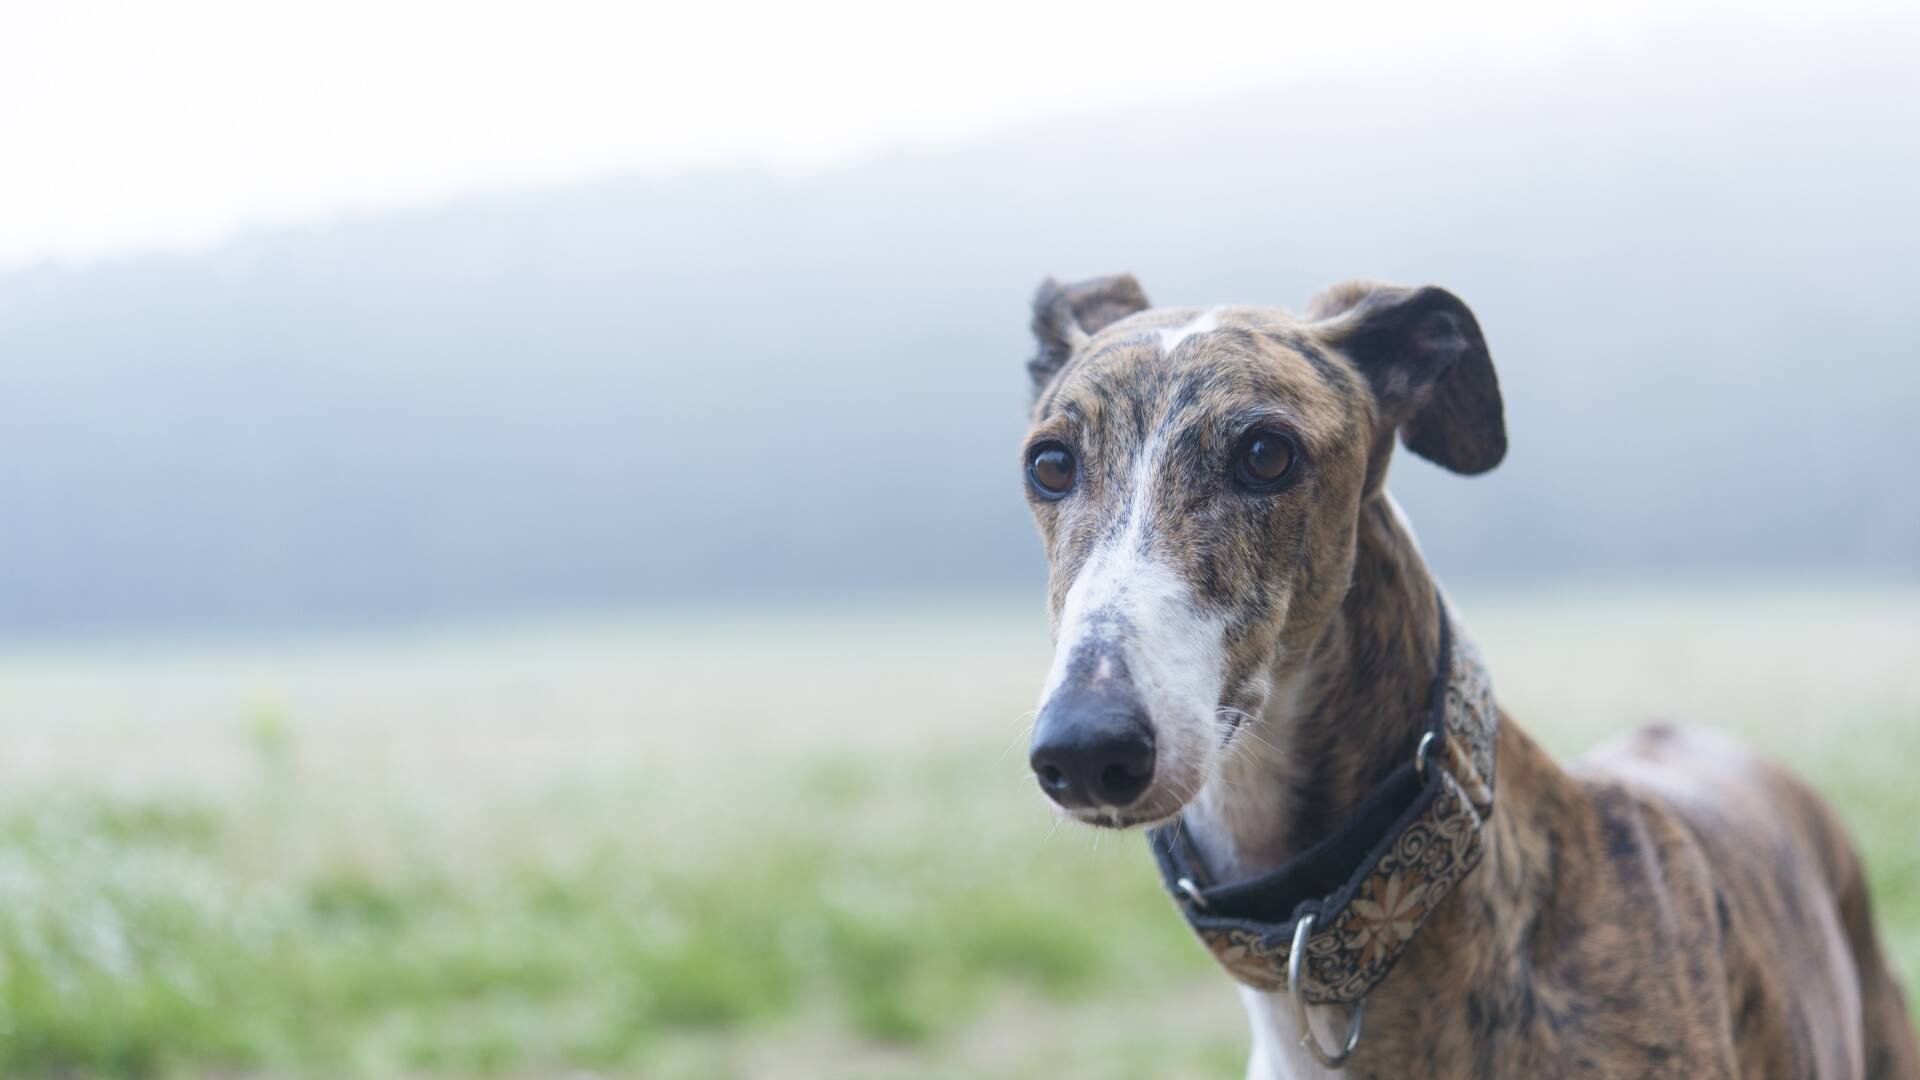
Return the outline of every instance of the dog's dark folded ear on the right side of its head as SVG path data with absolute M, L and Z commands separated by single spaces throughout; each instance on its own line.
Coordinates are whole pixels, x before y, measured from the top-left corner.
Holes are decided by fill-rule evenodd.
M 1507 423 L 1480 323 L 1444 288 L 1346 282 L 1308 306 L 1315 334 L 1373 386 L 1382 430 L 1455 473 L 1507 455 Z

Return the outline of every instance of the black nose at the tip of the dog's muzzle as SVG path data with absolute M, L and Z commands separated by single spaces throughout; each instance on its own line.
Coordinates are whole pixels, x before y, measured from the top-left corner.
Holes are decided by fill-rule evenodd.
M 1154 778 L 1154 728 L 1129 700 L 1062 688 L 1041 711 L 1029 761 L 1064 807 L 1123 807 Z

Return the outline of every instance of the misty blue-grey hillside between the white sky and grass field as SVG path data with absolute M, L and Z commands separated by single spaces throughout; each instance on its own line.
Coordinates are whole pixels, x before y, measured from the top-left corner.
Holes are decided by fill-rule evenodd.
M 1031 588 L 1027 298 L 1114 271 L 1465 298 L 1511 454 L 1396 459 L 1442 578 L 1912 578 L 1910 37 L 1438 58 L 17 267 L 0 634 Z

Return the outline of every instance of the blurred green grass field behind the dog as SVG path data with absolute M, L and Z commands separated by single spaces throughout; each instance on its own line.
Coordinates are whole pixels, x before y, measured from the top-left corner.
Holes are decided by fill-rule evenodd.
M 1455 600 L 1559 753 L 1795 761 L 1920 972 L 1920 590 Z M 0 1076 L 1233 1076 L 1044 663 L 1035 598 L 8 651 Z

